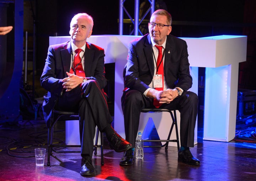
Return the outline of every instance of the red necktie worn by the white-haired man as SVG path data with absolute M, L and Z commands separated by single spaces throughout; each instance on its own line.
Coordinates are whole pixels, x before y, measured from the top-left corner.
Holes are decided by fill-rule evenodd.
M 79 53 L 82 51 L 82 49 L 76 49 L 75 50 L 75 57 L 74 57 L 74 62 L 72 67 L 75 69 L 75 74 L 79 77 L 85 77 L 85 72 L 84 69 L 82 68 L 82 61 L 81 61 L 81 57 L 79 55 Z M 71 74 L 74 73 L 74 69 L 71 68 L 70 72 Z

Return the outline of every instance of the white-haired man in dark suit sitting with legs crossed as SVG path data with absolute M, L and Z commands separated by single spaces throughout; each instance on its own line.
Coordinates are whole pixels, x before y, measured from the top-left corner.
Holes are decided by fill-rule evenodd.
M 86 13 L 75 15 L 70 22 L 71 41 L 49 46 L 41 76 L 41 85 L 48 91 L 43 102 L 47 126 L 53 109 L 79 111 L 82 176 L 95 174 L 92 152 L 96 125 L 106 133 L 116 152 L 131 148 L 131 144 L 111 126 L 113 120 L 103 92 L 106 86 L 105 53 L 101 47 L 86 42 L 92 34 L 93 24 L 92 17 Z

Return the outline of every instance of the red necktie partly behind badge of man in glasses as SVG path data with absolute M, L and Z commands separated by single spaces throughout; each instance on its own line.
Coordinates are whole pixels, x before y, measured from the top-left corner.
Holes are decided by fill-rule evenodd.
M 159 53 L 158 53 L 158 59 L 157 59 L 157 61 L 156 61 L 156 67 L 158 67 L 158 68 L 156 68 L 156 70 L 158 71 L 158 72 L 156 72 L 156 74 L 160 74 L 160 75 L 162 75 L 162 84 L 164 84 L 164 66 L 163 66 L 163 61 L 161 61 L 162 60 L 162 46 L 157 46 L 157 45 L 155 45 L 156 46 L 156 48 L 158 49 L 158 51 L 159 51 Z M 161 64 L 160 64 L 161 63 Z M 160 64 L 160 65 L 159 65 Z M 164 90 L 164 85 L 162 85 L 162 87 L 161 88 L 155 88 L 156 90 L 159 90 L 159 91 L 161 91 L 161 90 Z M 153 104 L 154 104 L 154 106 L 156 107 L 156 108 L 159 108 L 162 104 L 160 104 L 159 103 L 159 101 L 157 101 L 156 99 L 154 99 L 154 101 L 153 101 Z

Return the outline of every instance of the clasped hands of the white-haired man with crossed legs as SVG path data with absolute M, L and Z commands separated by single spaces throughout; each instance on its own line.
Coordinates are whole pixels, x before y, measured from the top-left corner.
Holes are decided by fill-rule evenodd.
M 79 77 L 74 74 L 70 74 L 69 72 L 66 72 L 66 74 L 68 75 L 68 77 L 62 80 L 63 81 L 62 86 L 64 89 L 66 89 L 66 92 L 71 91 L 72 89 L 80 85 L 83 81 L 82 77 Z

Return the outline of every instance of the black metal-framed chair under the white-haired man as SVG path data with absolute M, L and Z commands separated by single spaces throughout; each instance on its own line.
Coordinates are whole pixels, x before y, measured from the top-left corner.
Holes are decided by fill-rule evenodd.
M 57 151 L 54 147 L 81 147 L 81 145 L 57 145 L 53 144 L 53 132 L 54 132 L 54 125 L 57 121 L 69 121 L 69 120 L 79 120 L 79 114 L 75 112 L 68 112 L 68 111 L 57 111 L 53 110 L 53 122 L 50 124 L 48 128 L 48 157 L 47 157 L 47 166 L 50 166 L 50 156 L 53 152 L 56 153 L 80 153 L 80 151 Z M 94 155 L 97 154 L 97 148 L 101 148 L 101 165 L 104 165 L 103 159 L 103 134 L 100 132 L 101 142 L 98 145 L 98 136 L 99 130 L 97 128 L 96 131 L 96 141 L 94 145 Z

